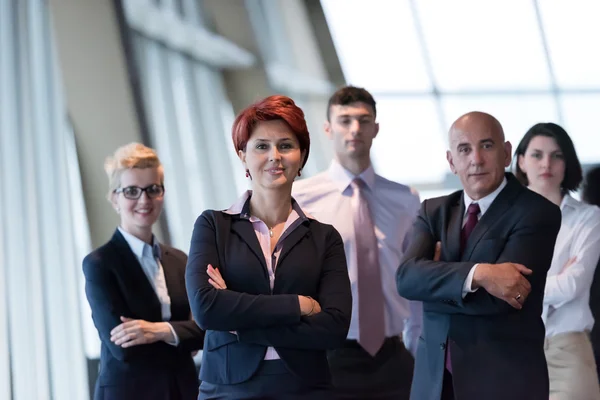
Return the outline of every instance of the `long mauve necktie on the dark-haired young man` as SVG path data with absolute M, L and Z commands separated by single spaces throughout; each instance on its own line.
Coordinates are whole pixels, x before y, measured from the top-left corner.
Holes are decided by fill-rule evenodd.
M 379 248 L 369 204 L 363 193 L 365 183 L 356 178 L 351 186 L 358 269 L 358 342 L 369 354 L 375 356 L 385 340 Z

